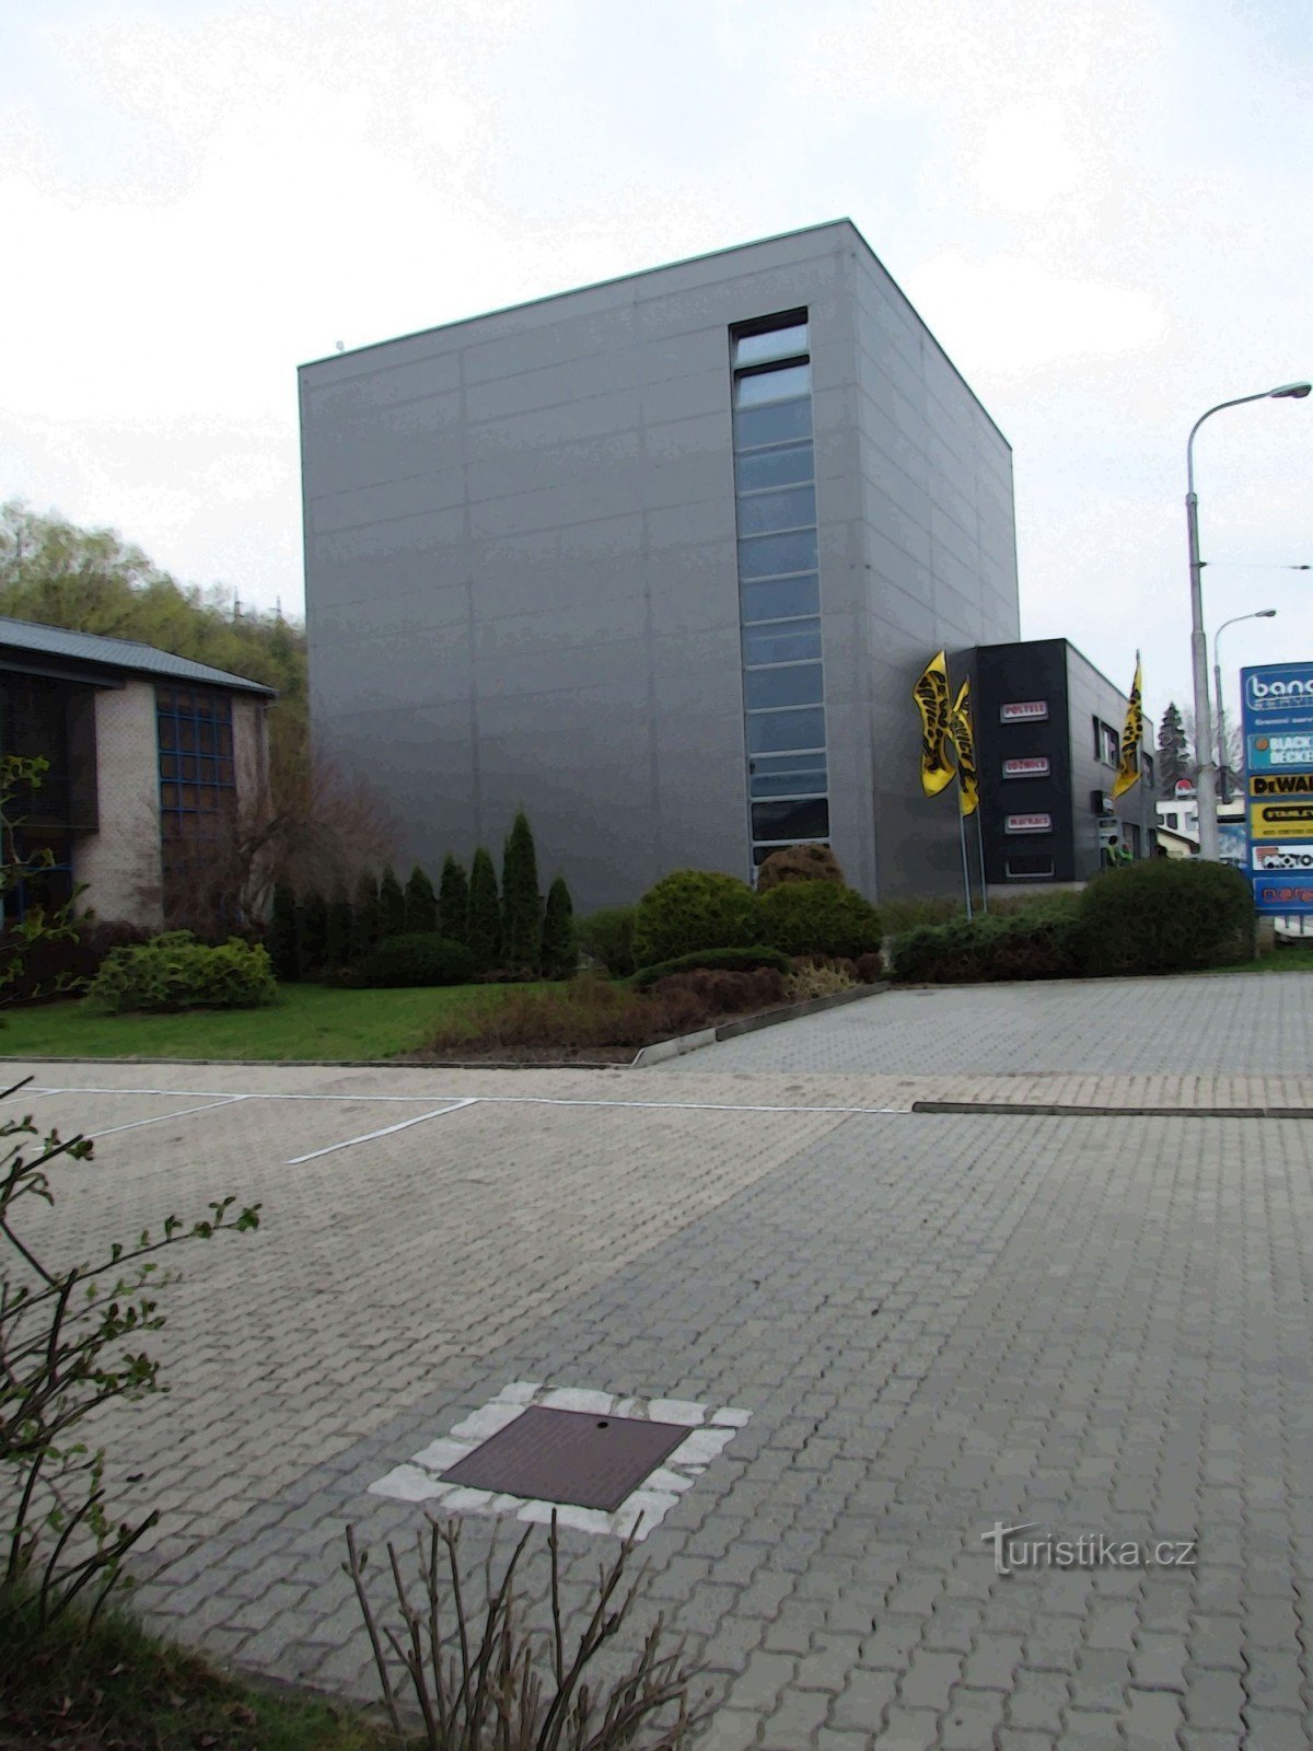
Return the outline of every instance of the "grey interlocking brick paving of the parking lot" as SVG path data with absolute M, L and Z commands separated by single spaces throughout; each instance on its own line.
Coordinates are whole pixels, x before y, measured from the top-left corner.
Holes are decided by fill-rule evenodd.
M 180 1259 L 173 1390 L 102 1431 L 165 1509 L 142 1607 L 369 1695 L 345 1523 L 422 1525 L 369 1487 L 534 1382 L 751 1411 L 641 1546 L 714 1751 L 1308 1744 L 1313 1126 L 1189 1107 L 1313 1114 L 1309 1007 L 1304 975 L 889 995 L 662 1072 L 19 1066 L 67 1093 L 14 1107 L 102 1135 L 61 1247 L 264 1205 Z M 1176 1115 L 907 1110 L 1141 1072 Z M 1197 1560 L 998 1574 L 996 1522 Z M 562 1537 L 578 1599 L 614 1546 Z

